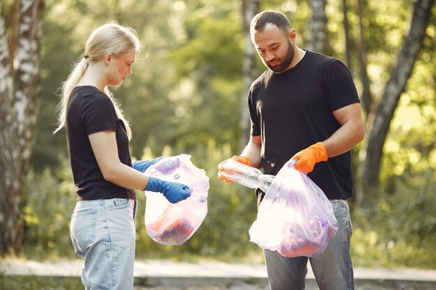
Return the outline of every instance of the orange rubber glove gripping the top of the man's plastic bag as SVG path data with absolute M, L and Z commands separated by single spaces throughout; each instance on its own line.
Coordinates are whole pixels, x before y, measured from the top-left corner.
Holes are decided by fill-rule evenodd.
M 316 163 L 327 161 L 329 156 L 327 156 L 324 144 L 318 142 L 298 152 L 292 159 L 297 160 L 297 163 L 295 163 L 296 170 L 309 173 L 312 172 Z

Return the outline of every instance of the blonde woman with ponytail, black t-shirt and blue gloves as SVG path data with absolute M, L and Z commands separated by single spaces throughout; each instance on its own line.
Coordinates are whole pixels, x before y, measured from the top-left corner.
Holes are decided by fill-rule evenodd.
M 133 29 L 105 24 L 91 33 L 84 58 L 63 83 L 56 131 L 65 127 L 77 186 L 70 233 L 76 254 L 84 258 L 86 289 L 133 289 L 135 189 L 163 193 L 173 203 L 190 195 L 184 184 L 139 172 L 156 159 L 132 168 L 132 133 L 108 87 L 132 74 L 140 48 Z

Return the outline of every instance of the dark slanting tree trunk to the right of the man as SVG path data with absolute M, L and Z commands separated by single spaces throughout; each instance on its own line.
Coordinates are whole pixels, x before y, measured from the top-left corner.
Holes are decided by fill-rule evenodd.
M 400 95 L 404 91 L 407 79 L 410 78 L 416 56 L 422 47 L 434 2 L 435 0 L 417 0 L 414 3 L 410 31 L 405 37 L 394 70 L 392 70 L 391 77 L 387 81 L 368 136 L 366 158 L 361 168 L 361 180 L 364 183 L 364 190 L 367 188 L 375 190 L 378 186 L 384 141 Z

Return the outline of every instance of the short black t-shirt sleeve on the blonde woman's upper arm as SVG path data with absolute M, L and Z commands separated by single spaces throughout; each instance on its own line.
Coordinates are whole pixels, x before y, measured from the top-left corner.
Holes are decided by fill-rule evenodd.
M 81 118 L 86 134 L 116 130 L 116 113 L 111 99 L 102 93 L 89 95 L 83 103 Z

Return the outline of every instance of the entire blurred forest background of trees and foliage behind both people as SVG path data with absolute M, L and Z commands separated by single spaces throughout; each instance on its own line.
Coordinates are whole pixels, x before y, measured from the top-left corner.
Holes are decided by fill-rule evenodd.
M 210 177 L 208 216 L 180 246 L 148 237 L 137 192 L 137 257 L 263 261 L 249 243 L 254 191 L 221 182 L 217 164 L 247 142 L 247 86 L 265 70 L 247 23 L 280 10 L 299 47 L 348 65 L 361 97 L 354 264 L 436 268 L 434 0 L 1 0 L 0 8 L 3 257 L 75 257 L 75 186 L 65 136 L 52 135 L 59 87 L 89 33 L 116 22 L 136 29 L 144 47 L 113 89 L 132 124 L 133 159 L 190 154 Z

